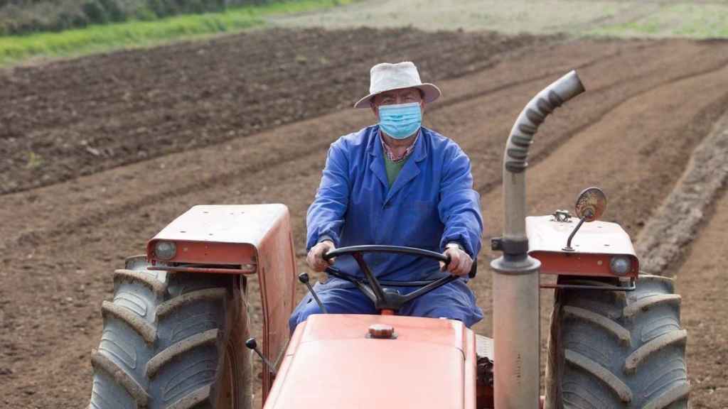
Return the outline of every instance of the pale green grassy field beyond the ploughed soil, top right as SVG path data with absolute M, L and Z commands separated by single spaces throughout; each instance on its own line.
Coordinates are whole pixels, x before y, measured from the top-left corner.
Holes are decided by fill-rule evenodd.
M 269 17 L 287 27 L 493 30 L 568 36 L 728 38 L 728 1 L 378 0 L 306 15 Z

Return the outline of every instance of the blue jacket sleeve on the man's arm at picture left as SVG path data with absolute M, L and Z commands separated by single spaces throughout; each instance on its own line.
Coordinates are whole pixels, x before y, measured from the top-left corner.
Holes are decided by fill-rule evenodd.
M 321 184 L 306 213 L 306 250 L 323 237 L 339 247 L 344 215 L 349 206 L 349 160 L 343 140 L 331 144 Z

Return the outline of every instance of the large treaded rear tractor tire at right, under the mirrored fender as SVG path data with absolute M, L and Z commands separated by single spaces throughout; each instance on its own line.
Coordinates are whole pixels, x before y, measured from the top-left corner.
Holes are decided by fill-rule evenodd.
M 545 408 L 687 408 L 687 333 L 671 279 L 642 275 L 631 292 L 561 289 L 555 298 Z

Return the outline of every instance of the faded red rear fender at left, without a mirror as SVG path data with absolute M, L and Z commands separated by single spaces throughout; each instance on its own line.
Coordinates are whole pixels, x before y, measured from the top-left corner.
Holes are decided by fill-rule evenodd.
M 157 255 L 158 242 L 175 246 Z M 263 354 L 282 356 L 293 311 L 296 258 L 288 207 L 283 204 L 201 205 L 179 216 L 147 243 L 150 269 L 199 274 L 255 274 L 261 290 Z M 273 376 L 263 374 L 265 400 Z

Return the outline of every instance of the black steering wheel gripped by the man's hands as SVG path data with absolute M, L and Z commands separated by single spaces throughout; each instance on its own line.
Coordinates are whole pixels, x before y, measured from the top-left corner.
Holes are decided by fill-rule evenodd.
M 343 271 L 336 269 L 335 267 L 328 267 L 326 273 L 332 277 L 345 279 L 348 282 L 352 282 L 356 285 L 362 293 L 364 293 L 374 303 L 374 307 L 379 310 L 389 309 L 397 311 L 408 301 L 430 293 L 430 291 L 436 288 L 442 287 L 443 285 L 453 282 L 458 279 L 459 276 L 448 275 L 440 279 L 424 280 L 424 281 L 379 281 L 369 269 L 366 261 L 364 261 L 363 253 L 395 253 L 403 255 L 415 255 L 418 257 L 431 258 L 435 261 L 442 261 L 446 265 L 450 263 L 450 258 L 434 251 L 419 249 L 415 247 L 404 247 L 404 246 L 385 246 L 385 245 L 361 245 L 361 246 L 349 246 L 341 247 L 336 250 L 323 255 L 325 261 L 329 261 L 334 257 L 341 255 L 351 255 L 359 265 L 359 268 L 364 273 L 366 280 L 352 276 L 351 274 L 344 273 Z M 475 277 L 478 271 L 478 261 L 472 262 L 472 269 L 470 269 L 471 278 Z M 412 293 L 407 295 L 401 295 L 396 290 L 385 290 L 382 285 L 396 286 L 396 287 L 420 287 L 414 290 Z

